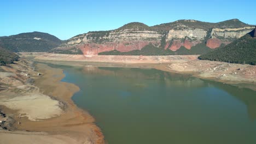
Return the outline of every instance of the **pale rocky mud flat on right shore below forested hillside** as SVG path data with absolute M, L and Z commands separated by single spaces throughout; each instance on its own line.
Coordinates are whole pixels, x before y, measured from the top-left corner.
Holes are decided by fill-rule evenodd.
M 177 73 L 191 73 L 202 79 L 239 84 L 252 84 L 256 90 L 256 66 L 248 64 L 231 64 L 225 62 L 212 62 L 193 60 L 181 63 L 171 63 L 164 67 L 156 67 L 165 71 L 176 71 Z

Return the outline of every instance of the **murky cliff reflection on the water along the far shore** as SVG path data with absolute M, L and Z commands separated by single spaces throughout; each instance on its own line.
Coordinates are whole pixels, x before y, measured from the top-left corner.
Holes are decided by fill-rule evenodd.
M 213 82 L 191 77 L 190 75 L 168 73 L 166 71 L 160 71 L 155 69 L 137 69 L 137 68 L 103 68 L 103 67 L 84 67 L 77 69 L 83 71 L 85 75 L 98 76 L 113 76 L 118 77 L 124 83 L 133 83 L 130 87 L 127 87 L 123 95 L 127 97 L 129 92 L 143 91 L 148 86 L 145 79 L 156 80 L 161 83 L 164 88 L 176 87 L 176 88 L 202 88 L 202 87 L 217 87 L 228 92 L 230 95 L 240 100 L 247 106 L 248 117 L 254 121 L 256 119 L 256 95 L 251 89 L 238 88 L 236 86 L 225 85 L 220 82 Z M 141 82 L 138 82 L 142 80 Z

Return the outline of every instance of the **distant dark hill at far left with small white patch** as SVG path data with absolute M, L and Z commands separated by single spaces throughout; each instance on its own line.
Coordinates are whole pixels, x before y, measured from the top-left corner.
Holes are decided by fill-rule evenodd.
M 43 52 L 59 46 L 62 41 L 48 33 L 32 32 L 0 37 L 0 46 L 13 52 Z

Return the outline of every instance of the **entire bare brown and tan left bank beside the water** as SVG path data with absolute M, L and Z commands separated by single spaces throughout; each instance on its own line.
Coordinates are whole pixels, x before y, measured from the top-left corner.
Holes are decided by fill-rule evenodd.
M 79 88 L 60 82 L 61 69 L 36 68 L 26 59 L 1 66 L 0 143 L 104 143 L 94 118 L 71 100 Z

